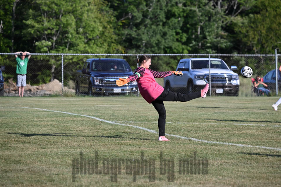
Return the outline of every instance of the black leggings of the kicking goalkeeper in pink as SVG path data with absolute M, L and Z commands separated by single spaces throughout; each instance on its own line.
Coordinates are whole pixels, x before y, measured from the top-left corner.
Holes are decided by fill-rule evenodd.
M 161 93 L 161 95 L 152 102 L 154 108 L 157 110 L 159 114 L 159 118 L 158 118 L 159 136 L 165 136 L 166 110 L 163 101 L 186 102 L 199 97 L 201 97 L 200 91 L 188 93 L 188 94 L 181 94 L 177 92 L 174 93 L 165 89 Z

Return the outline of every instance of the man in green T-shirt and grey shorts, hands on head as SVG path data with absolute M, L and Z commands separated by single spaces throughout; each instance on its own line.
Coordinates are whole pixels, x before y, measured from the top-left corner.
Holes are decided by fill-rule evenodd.
M 27 63 L 28 60 L 30 59 L 30 52 L 21 52 L 18 51 L 16 53 L 20 53 L 19 57 L 18 55 L 16 56 L 16 61 L 17 61 L 17 86 L 18 86 L 18 95 L 20 97 L 23 97 L 23 92 L 24 92 L 24 86 L 26 86 L 26 68 L 27 68 Z M 27 58 L 25 58 L 27 56 Z

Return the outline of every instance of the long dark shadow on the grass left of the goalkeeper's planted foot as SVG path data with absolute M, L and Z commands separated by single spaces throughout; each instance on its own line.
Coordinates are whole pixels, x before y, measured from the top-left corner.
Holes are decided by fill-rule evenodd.
M 47 134 L 47 133 L 42 133 L 42 134 L 26 134 L 26 133 L 14 133 L 14 132 L 6 132 L 7 134 L 17 134 L 25 137 L 31 137 L 31 136 L 66 136 L 66 137 L 95 137 L 95 138 L 126 138 L 121 135 L 113 135 L 113 136 L 82 136 L 82 135 L 70 135 L 66 133 L 52 133 L 52 134 Z M 150 140 L 147 138 L 128 138 L 128 139 L 136 139 L 136 140 Z

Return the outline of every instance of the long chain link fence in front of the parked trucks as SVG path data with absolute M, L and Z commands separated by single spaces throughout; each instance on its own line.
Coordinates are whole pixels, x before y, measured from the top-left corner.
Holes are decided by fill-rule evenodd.
M 139 96 L 136 82 L 118 87 L 115 81 L 119 77 L 126 78 L 132 74 L 138 67 L 136 58 L 141 55 L 31 54 L 27 65 L 27 86 L 24 96 Z M 172 91 L 181 93 L 198 91 L 208 82 L 211 87 L 210 96 L 263 96 L 263 93 L 259 94 L 253 88 L 251 78 L 255 79 L 257 76 L 262 77 L 263 82 L 268 85 L 270 95 L 276 95 L 281 89 L 281 73 L 278 70 L 276 91 L 275 60 L 277 69 L 281 65 L 280 60 L 276 58 L 278 55 L 150 54 L 150 56 L 152 70 L 183 71 L 183 76 L 156 78 L 161 86 Z M 102 61 L 100 58 L 109 60 Z M 128 66 L 124 60 L 128 62 Z M 102 66 L 100 70 L 97 69 L 99 63 Z M 0 66 L 4 77 L 4 83 L 0 82 L 0 95 L 18 96 L 15 54 L 0 53 Z M 240 70 L 244 66 L 253 69 L 251 78 L 240 75 Z

